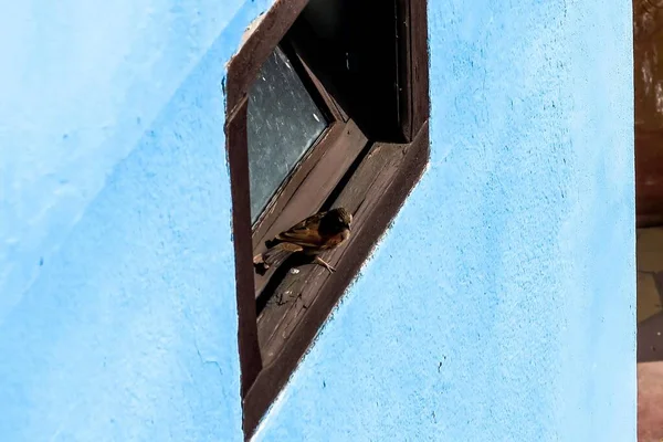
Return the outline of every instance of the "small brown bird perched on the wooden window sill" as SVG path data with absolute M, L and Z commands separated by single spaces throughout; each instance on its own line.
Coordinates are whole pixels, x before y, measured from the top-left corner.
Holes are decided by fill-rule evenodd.
M 329 273 L 335 272 L 336 269 L 323 261 L 318 253 L 335 249 L 347 240 L 351 223 L 352 214 L 344 208 L 318 212 L 278 233 L 266 252 L 253 257 L 253 264 L 262 264 L 266 270 L 291 253 L 304 253 L 315 256 L 313 262 L 324 266 Z

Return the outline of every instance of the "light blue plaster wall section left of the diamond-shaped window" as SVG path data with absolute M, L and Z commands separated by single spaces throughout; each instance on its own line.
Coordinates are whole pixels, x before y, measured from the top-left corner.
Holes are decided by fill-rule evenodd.
M 239 441 L 224 64 L 270 1 L 6 2 L 0 441 Z

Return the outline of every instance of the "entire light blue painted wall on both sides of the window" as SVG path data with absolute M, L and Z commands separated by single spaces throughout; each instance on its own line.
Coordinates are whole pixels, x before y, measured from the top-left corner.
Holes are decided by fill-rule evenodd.
M 220 83 L 271 1 L 112 3 L 0 18 L 0 440 L 241 440 Z M 429 21 L 430 167 L 255 439 L 634 441 L 630 2 Z

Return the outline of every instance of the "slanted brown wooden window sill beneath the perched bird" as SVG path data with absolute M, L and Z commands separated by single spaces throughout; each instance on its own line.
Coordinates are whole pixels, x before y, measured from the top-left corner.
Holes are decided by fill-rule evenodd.
M 373 144 L 332 204 L 355 213 L 350 239 L 324 255 L 337 271 L 329 274 L 317 265 L 288 269 L 285 263 L 278 270 L 282 278 L 273 276 L 280 282 L 257 318 L 263 369 L 244 399 L 245 425 L 255 428 L 281 391 L 318 324 L 327 318 L 423 173 L 428 157 L 428 123 L 411 144 Z

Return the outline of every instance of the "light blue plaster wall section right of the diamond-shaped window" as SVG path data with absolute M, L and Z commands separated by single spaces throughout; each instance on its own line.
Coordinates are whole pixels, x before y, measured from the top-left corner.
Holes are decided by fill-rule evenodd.
M 431 165 L 264 441 L 635 441 L 631 2 L 430 0 Z

